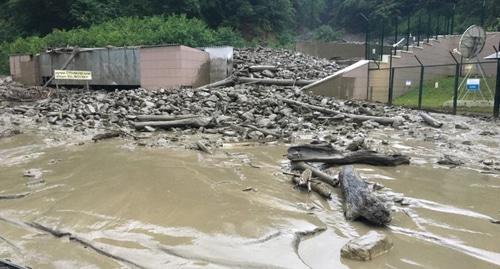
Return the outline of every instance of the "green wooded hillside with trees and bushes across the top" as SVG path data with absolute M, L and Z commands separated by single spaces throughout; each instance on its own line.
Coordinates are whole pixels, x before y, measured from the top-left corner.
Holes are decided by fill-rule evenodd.
M 500 28 L 495 0 L 0 0 L 0 73 L 12 53 L 51 46 L 293 44 L 297 36 L 332 41 L 343 32 L 394 18 L 455 14 L 455 30 Z M 403 27 L 402 27 L 403 28 Z M 373 29 L 372 29 L 373 30 Z

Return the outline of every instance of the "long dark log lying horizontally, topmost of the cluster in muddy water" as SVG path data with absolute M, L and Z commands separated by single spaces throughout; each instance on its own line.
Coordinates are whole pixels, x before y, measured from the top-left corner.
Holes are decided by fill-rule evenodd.
M 410 163 L 410 157 L 405 155 L 385 155 L 368 150 L 343 153 L 328 144 L 290 147 L 288 159 L 293 162 L 320 162 L 330 165 L 398 166 Z

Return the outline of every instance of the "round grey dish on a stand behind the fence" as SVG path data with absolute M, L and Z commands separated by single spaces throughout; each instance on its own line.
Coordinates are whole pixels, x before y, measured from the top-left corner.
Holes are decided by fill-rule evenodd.
M 476 57 L 483 51 L 486 43 L 486 32 L 484 29 L 477 25 L 472 25 L 460 38 L 458 51 L 467 59 Z

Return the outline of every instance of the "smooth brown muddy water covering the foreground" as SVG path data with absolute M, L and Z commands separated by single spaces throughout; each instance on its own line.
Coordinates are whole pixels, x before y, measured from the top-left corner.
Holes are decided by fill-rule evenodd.
M 0 258 L 32 268 L 498 268 L 500 178 L 473 169 L 358 166 L 404 195 L 386 229 L 394 249 L 369 263 L 340 258 L 371 229 L 348 223 L 340 193 L 326 202 L 280 173 L 286 146 L 214 156 L 128 142 L 85 145 L 20 135 L 0 141 Z M 43 180 L 23 177 L 43 171 Z M 250 191 L 243 191 L 250 189 Z M 71 233 L 54 237 L 26 225 Z M 326 228 L 311 237 L 297 232 Z M 108 255 L 103 255 L 107 253 Z M 111 254 L 112 257 L 109 257 Z

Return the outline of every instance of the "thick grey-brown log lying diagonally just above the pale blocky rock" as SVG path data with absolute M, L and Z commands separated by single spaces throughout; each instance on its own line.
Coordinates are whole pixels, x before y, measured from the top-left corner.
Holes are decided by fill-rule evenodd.
M 375 225 L 391 222 L 391 211 L 373 194 L 352 166 L 344 166 L 339 173 L 340 188 L 344 195 L 344 214 L 347 220 L 363 218 Z

